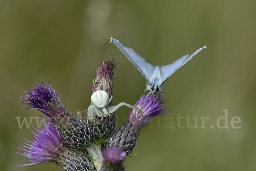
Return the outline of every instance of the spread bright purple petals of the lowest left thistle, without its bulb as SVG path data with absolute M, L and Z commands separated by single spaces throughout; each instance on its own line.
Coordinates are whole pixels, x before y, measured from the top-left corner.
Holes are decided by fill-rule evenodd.
M 24 151 L 24 154 L 18 152 L 17 154 L 28 157 L 30 159 L 29 162 L 32 162 L 18 166 L 36 165 L 44 162 L 59 163 L 61 155 L 64 151 L 67 151 L 67 148 L 63 146 L 63 142 L 56 126 L 50 123 L 49 120 L 45 121 L 46 124 L 44 124 L 41 131 L 33 126 L 37 134 L 32 131 L 31 135 L 34 138 L 34 142 L 25 139 L 30 144 L 25 142 L 26 145 L 22 146 L 27 149 L 17 147 Z

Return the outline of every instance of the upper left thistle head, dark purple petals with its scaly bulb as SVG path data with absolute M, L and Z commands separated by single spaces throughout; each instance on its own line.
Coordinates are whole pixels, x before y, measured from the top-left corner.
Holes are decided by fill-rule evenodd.
M 90 144 L 92 136 L 90 128 L 83 120 L 70 114 L 61 103 L 61 98 L 52 88 L 50 83 L 41 82 L 35 85 L 33 91 L 24 91 L 28 95 L 23 96 L 21 102 L 26 108 L 38 109 L 57 125 L 62 140 L 71 148 L 86 148 Z

